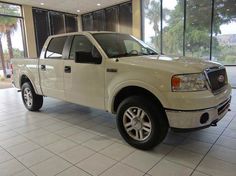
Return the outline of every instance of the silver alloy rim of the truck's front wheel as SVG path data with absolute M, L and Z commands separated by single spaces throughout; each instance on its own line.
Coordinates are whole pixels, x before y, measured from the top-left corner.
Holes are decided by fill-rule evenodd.
M 146 140 L 152 132 L 152 124 L 147 113 L 138 107 L 130 107 L 123 115 L 123 126 L 130 137 L 138 141 Z

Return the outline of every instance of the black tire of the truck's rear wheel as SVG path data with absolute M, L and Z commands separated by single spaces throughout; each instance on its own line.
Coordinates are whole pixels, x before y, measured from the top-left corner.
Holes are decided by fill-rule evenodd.
M 28 98 L 32 99 L 32 103 L 27 103 L 26 91 L 29 93 Z M 22 100 L 25 107 L 29 111 L 38 111 L 43 106 L 43 96 L 37 95 L 31 83 L 26 82 L 21 87 Z M 26 96 L 26 97 L 25 97 Z

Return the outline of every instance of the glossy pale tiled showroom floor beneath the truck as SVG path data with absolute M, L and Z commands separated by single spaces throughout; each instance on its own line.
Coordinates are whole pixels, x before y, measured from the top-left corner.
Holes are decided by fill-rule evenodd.
M 15 89 L 0 90 L 0 175 L 236 176 L 235 97 L 217 127 L 170 132 L 154 150 L 140 151 L 106 112 L 51 98 L 29 112 Z

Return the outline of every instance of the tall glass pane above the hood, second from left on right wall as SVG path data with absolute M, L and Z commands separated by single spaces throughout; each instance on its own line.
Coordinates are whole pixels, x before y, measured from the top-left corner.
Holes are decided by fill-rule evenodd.
M 184 0 L 164 0 L 162 3 L 163 52 L 183 55 Z

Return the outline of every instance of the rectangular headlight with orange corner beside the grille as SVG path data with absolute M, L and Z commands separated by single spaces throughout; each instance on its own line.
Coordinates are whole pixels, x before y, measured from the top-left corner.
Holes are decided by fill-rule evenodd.
M 202 73 L 174 75 L 171 79 L 174 92 L 191 92 L 207 90 L 206 77 Z

